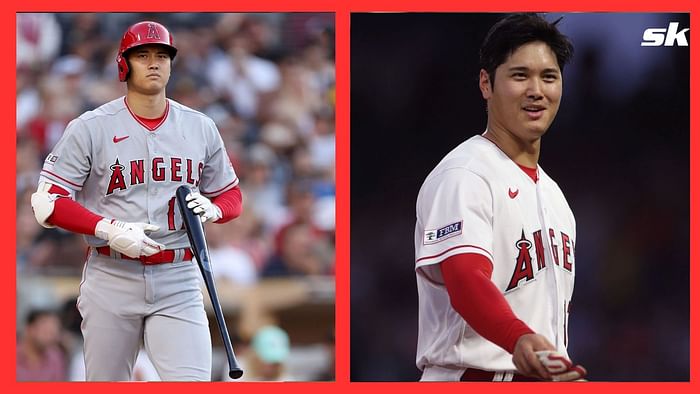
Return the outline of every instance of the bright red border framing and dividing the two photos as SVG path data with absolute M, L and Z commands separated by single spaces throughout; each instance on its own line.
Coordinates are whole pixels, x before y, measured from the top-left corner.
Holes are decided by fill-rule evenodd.
M 0 29 L 4 31 L 2 42 L 2 52 L 11 54 L 6 56 L 2 62 L 2 75 L 12 78 L 15 74 L 14 53 L 14 26 L 15 13 L 19 11 L 39 12 L 65 12 L 65 11 L 81 11 L 90 10 L 95 12 L 128 12 L 128 11 L 210 11 L 210 12 L 231 12 L 231 11 L 318 11 L 318 12 L 335 12 L 336 13 L 336 68 L 337 68 L 337 109 L 336 109 L 336 166 L 337 166 L 337 267 L 336 267 L 336 376 L 335 383 L 239 383 L 237 386 L 229 386 L 225 383 L 18 383 L 15 381 L 15 314 L 13 302 L 15 300 L 15 275 L 14 260 L 6 261 L 6 272 L 2 276 L 3 285 L 2 299 L 6 300 L 5 323 L 2 326 L 2 334 L 0 341 L 7 349 L 2 356 L 2 376 L 3 386 L 10 392 L 34 392 L 39 390 L 51 390 L 55 392 L 93 393 L 96 390 L 107 391 L 123 391 L 129 390 L 133 392 L 172 392 L 185 390 L 206 390 L 207 392 L 228 392 L 230 390 L 242 390 L 243 392 L 276 392 L 284 390 L 292 393 L 326 393 L 328 391 L 367 391 L 380 392 L 386 390 L 398 390 L 402 392 L 418 393 L 427 390 L 435 390 L 439 392 L 506 392 L 506 390 L 517 390 L 524 392 L 554 392 L 565 390 L 570 393 L 588 393 L 592 390 L 596 391 L 617 391 L 617 390 L 634 390 L 645 391 L 650 390 L 670 390 L 671 392 L 689 393 L 697 391 L 698 375 L 697 367 L 697 348 L 698 341 L 695 335 L 692 335 L 694 329 L 697 329 L 697 303 L 698 297 L 696 288 L 698 287 L 698 273 L 690 266 L 691 274 L 691 381 L 685 383 L 604 383 L 591 382 L 588 384 L 558 384 L 549 383 L 512 383 L 511 385 L 498 385 L 492 383 L 472 383 L 469 387 L 454 383 L 351 383 L 349 381 L 350 368 L 350 12 L 370 12 L 370 11 L 412 11 L 412 12 L 502 12 L 502 11 L 628 11 L 628 12 L 691 12 L 691 133 L 690 133 L 690 257 L 691 261 L 698 261 L 698 220 L 696 200 L 698 196 L 697 182 L 697 166 L 698 166 L 698 77 L 697 71 L 700 65 L 698 64 L 697 44 L 692 45 L 697 34 L 694 33 L 695 27 L 698 25 L 698 5 L 692 0 L 676 1 L 673 4 L 669 2 L 651 1 L 635 1 L 627 4 L 621 0 L 595 0 L 583 3 L 574 3 L 570 1 L 555 1 L 555 0 L 540 0 L 540 1 L 489 1 L 468 4 L 465 0 L 244 0 L 244 1 L 225 1 L 225 0 L 204 0 L 199 2 L 185 2 L 182 0 L 172 0 L 168 2 L 95 2 L 87 0 L 64 0 L 59 2 L 50 0 L 39 0 L 19 2 L 11 1 L 4 3 L 1 7 L 5 11 L 0 14 L 2 24 Z M 2 121 L 6 131 L 0 133 L 0 169 L 3 171 L 3 179 L 13 179 L 15 168 L 15 133 L 14 129 L 14 78 L 9 84 L 12 89 L 2 95 L 3 108 L 5 108 L 5 116 Z M 15 206 L 14 193 L 0 193 L 2 202 L 6 208 L 2 210 L 2 221 L 0 223 L 16 223 L 15 212 L 12 207 Z M 8 208 L 9 207 L 9 208 Z M 14 226 L 6 226 L 5 240 L 6 250 L 9 250 L 11 256 L 15 255 L 15 232 Z M 659 360 L 663 362 L 663 360 Z M 125 386 L 128 385 L 128 386 Z M 513 387 L 514 385 L 515 387 Z

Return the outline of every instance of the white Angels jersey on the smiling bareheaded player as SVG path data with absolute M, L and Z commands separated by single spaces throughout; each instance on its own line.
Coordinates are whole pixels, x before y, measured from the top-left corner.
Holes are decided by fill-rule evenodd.
M 477 253 L 515 315 L 564 355 L 574 288 L 576 223 L 559 186 L 533 181 L 480 135 L 428 175 L 416 204 L 416 278 L 421 380 L 459 380 L 466 368 L 515 371 L 512 356 L 477 334 L 451 304 L 439 263 Z

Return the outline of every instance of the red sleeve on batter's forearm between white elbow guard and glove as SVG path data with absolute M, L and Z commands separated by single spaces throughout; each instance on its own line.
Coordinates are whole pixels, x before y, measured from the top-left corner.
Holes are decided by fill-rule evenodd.
M 51 185 L 50 194 L 60 194 L 54 202 L 53 213 L 46 220 L 54 226 L 61 227 L 74 233 L 95 235 L 95 226 L 102 220 L 97 215 L 70 198 L 70 193 L 57 185 Z

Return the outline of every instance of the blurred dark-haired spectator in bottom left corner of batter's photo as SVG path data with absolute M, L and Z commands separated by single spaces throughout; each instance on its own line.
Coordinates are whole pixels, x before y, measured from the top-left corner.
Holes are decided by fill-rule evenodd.
M 65 380 L 66 361 L 60 340 L 61 321 L 56 312 L 30 311 L 17 342 L 17 380 Z

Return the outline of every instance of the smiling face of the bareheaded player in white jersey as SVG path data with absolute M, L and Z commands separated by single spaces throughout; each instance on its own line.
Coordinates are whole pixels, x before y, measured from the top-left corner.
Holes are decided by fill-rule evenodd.
M 539 139 L 554 121 L 561 101 L 561 70 L 554 52 L 541 41 L 522 45 L 496 68 L 494 79 L 492 87 L 481 70 L 489 128 L 525 143 Z

